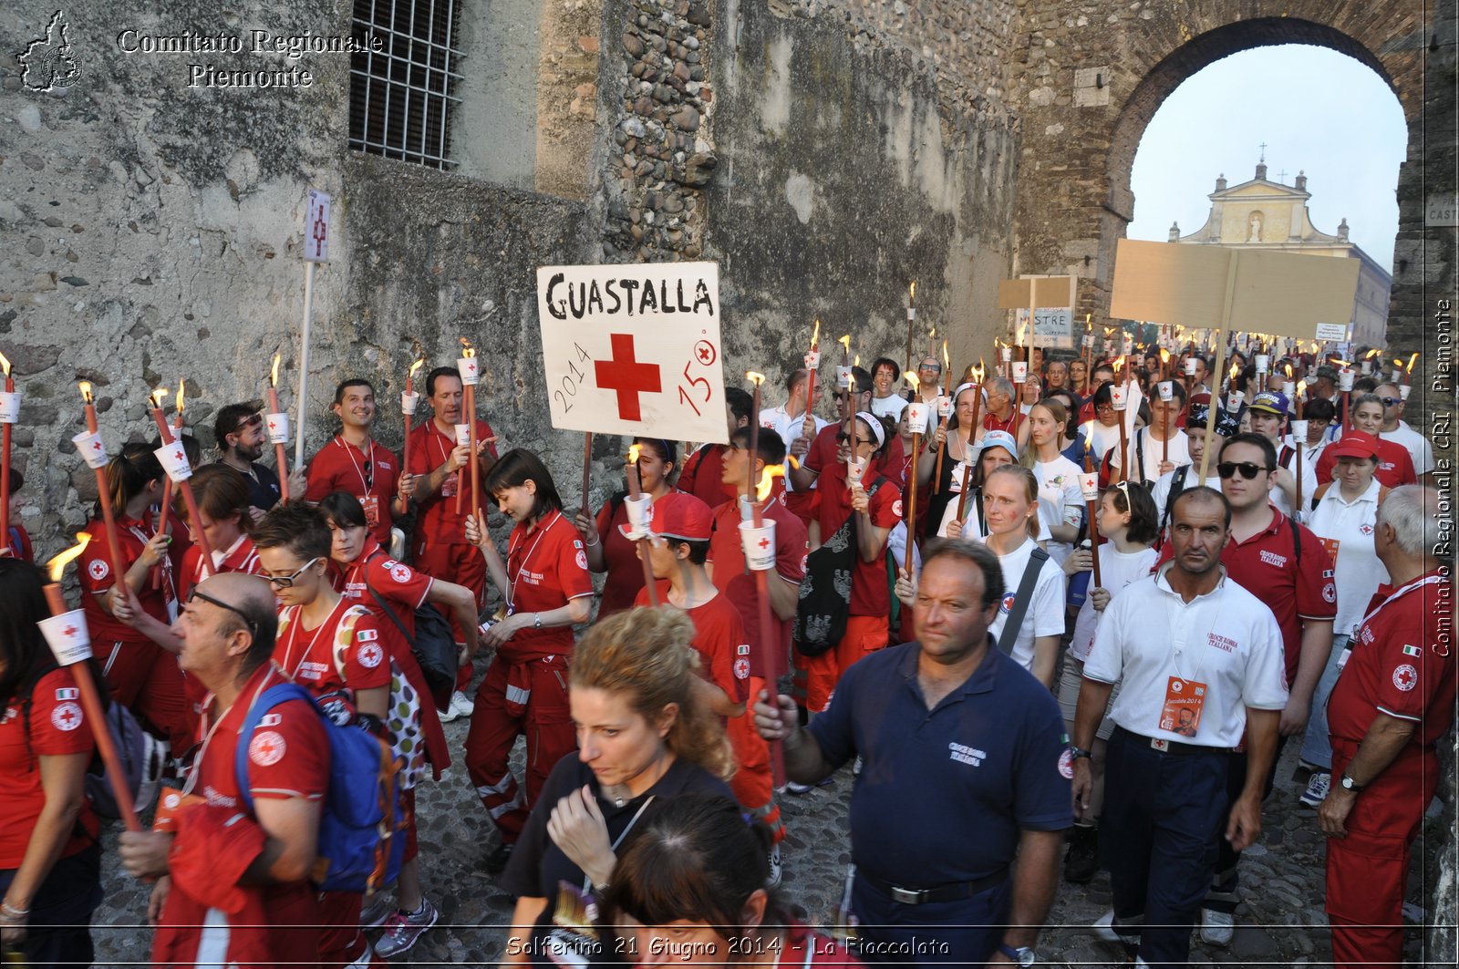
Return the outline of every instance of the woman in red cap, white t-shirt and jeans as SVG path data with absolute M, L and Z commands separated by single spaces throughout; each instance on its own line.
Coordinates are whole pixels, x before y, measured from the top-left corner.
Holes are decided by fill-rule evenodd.
M 1313 509 L 1306 524 L 1328 547 L 1335 563 L 1334 585 L 1338 590 L 1338 616 L 1332 620 L 1332 652 L 1317 680 L 1307 715 L 1307 734 L 1301 741 L 1301 760 L 1313 765 L 1301 803 L 1322 804 L 1332 784 L 1332 743 L 1328 738 L 1328 696 L 1338 682 L 1339 660 L 1348 648 L 1352 629 L 1363 622 L 1369 600 L 1388 581 L 1388 569 L 1373 549 L 1377 527 L 1377 506 L 1388 493 L 1377 471 L 1377 439 L 1367 433 L 1350 432 L 1328 445 L 1336 458 L 1332 480 L 1312 496 Z

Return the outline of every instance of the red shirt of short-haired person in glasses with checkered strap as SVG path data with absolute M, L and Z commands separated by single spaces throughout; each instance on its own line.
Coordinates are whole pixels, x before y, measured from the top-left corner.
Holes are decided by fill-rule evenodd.
M 334 611 L 314 629 L 305 629 L 299 606 L 279 614 L 274 663 L 289 679 L 315 696 L 390 686 L 388 642 L 369 610 L 340 598 Z M 346 616 L 355 620 L 346 630 Z

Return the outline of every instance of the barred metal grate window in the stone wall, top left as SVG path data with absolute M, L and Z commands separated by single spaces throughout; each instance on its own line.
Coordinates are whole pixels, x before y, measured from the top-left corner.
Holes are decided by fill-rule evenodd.
M 451 169 L 458 0 L 355 0 L 350 32 L 350 147 Z M 379 53 L 369 50 L 378 38 Z

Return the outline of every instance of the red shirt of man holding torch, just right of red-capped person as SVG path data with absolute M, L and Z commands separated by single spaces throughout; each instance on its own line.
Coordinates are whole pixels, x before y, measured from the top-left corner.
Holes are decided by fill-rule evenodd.
M 805 524 L 785 506 L 783 492 L 767 499 L 760 515 L 775 522 L 775 574 L 766 576 L 767 581 L 798 584 L 805 578 L 805 556 L 810 550 Z M 715 566 L 715 588 L 724 592 L 725 598 L 740 610 L 740 620 L 744 623 L 747 638 L 759 646 L 760 594 L 756 590 L 754 575 L 747 571 L 744 547 L 740 544 L 738 502 L 724 502 L 715 509 L 713 536 L 709 538 L 709 562 Z M 770 623 L 775 629 L 770 655 L 776 657 L 776 663 L 781 663 L 781 657 L 786 655 L 785 651 L 791 642 L 791 620 L 779 619 L 772 610 Z M 766 677 L 760 668 L 760 649 L 750 651 L 750 674 Z

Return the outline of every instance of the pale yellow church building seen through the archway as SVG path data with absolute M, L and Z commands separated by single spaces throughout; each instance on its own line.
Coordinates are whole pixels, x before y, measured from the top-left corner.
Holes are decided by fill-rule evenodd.
M 1393 276 L 1348 239 L 1347 219 L 1338 225 L 1336 235 L 1319 232 L 1312 225 L 1312 213 L 1307 212 L 1312 193 L 1307 191 L 1306 175 L 1299 172 L 1293 185 L 1271 181 L 1266 178 L 1263 161 L 1256 165 L 1256 178 L 1240 185 L 1228 188 L 1226 175 L 1217 178 L 1215 191 L 1210 198 L 1211 215 L 1207 216 L 1205 225 L 1191 235 L 1180 235 L 1180 226 L 1172 225 L 1172 242 L 1355 258 L 1363 269 L 1358 270 L 1358 290 L 1348 321 L 1348 340 L 1352 346 L 1388 344 L 1388 296 Z

